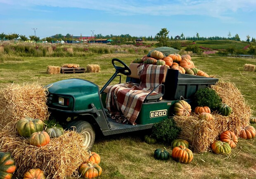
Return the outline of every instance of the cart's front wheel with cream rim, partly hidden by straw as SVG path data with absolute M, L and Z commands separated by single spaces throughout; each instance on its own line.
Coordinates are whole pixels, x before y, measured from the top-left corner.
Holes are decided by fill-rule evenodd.
M 66 128 L 83 134 L 83 145 L 90 151 L 95 141 L 95 130 L 89 122 L 84 120 L 71 121 Z

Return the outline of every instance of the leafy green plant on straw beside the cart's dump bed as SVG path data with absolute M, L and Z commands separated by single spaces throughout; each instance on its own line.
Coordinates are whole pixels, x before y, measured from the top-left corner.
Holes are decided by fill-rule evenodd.
M 194 94 L 194 100 L 197 106 L 208 106 L 212 110 L 218 108 L 218 105 L 222 103 L 222 99 L 216 91 L 209 87 L 198 90 Z

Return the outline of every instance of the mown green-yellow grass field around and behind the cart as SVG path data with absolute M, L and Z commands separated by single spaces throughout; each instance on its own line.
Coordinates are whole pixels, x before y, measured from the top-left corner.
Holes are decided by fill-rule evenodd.
M 129 64 L 137 54 L 102 54 L 87 57 L 19 57 L 0 64 L 1 87 L 14 83 L 38 82 L 47 85 L 67 78 L 90 80 L 101 88 L 114 73 L 111 59 L 118 58 Z M 256 59 L 231 57 L 193 57 L 197 68 L 220 80 L 230 81 L 241 90 L 256 116 L 256 72 L 243 71 L 244 64 L 256 64 Z M 47 66 L 62 64 L 99 64 L 100 73 L 56 74 L 46 73 Z M 125 81 L 125 77 L 122 78 Z M 256 125 L 254 125 L 256 127 Z M 146 132 L 133 132 L 103 137 L 97 135 L 92 151 L 101 155 L 102 179 L 241 179 L 256 178 L 256 139 L 239 139 L 238 145 L 228 156 L 209 152 L 194 153 L 192 163 L 185 165 L 172 159 L 158 161 L 153 157 L 156 148 L 169 144 L 146 144 L 142 137 Z

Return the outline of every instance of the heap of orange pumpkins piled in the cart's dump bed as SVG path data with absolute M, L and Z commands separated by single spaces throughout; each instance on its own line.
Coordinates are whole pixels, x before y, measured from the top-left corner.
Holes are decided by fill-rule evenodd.
M 153 50 L 150 55 L 146 54 L 142 58 L 133 60 L 132 63 L 163 65 L 168 66 L 168 68 L 178 70 L 183 74 L 209 77 L 207 73 L 198 70 L 196 66 L 194 66 L 194 62 L 191 60 L 191 56 L 189 54 L 180 55 L 174 53 L 168 54 L 168 56 L 166 56 L 164 53 L 158 50 Z

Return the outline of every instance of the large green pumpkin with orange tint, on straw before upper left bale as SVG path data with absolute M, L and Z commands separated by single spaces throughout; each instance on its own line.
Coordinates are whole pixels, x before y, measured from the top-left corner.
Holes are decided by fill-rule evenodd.
M 17 122 L 17 131 L 18 133 L 25 138 L 28 138 L 34 132 L 42 132 L 44 127 L 44 123 L 40 119 L 33 118 L 21 118 Z

